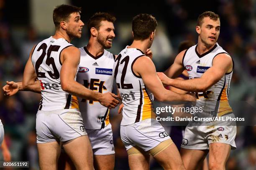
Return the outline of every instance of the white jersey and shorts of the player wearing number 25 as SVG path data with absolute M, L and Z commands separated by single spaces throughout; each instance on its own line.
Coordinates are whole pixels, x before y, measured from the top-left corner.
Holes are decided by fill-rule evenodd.
M 35 46 L 31 56 L 42 95 L 36 115 L 37 143 L 64 142 L 87 135 L 77 97 L 61 88 L 60 56 L 69 46 L 73 45 L 63 38 L 49 37 Z

